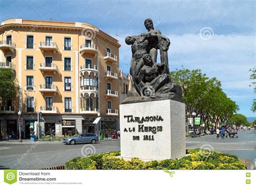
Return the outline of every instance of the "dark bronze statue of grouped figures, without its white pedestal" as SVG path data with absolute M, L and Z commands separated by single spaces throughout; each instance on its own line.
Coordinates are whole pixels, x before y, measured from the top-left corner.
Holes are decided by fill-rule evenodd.
M 138 103 L 153 100 L 172 99 L 182 102 L 181 87 L 170 79 L 167 51 L 169 38 L 154 30 L 153 21 L 144 21 L 147 33 L 125 38 L 127 45 L 132 45 L 130 74 L 132 89 L 128 97 L 121 103 Z M 157 54 L 160 51 L 160 63 Z

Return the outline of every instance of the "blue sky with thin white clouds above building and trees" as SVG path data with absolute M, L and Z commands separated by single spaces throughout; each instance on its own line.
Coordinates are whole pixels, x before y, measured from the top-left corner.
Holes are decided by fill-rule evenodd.
M 11 3 L 10 3 L 11 2 Z M 119 39 L 120 69 L 129 72 L 124 39 L 145 32 L 144 19 L 170 38 L 170 70 L 183 65 L 217 77 L 239 113 L 255 117 L 248 70 L 255 66 L 256 1 L 0 1 L 0 20 L 79 21 Z M 208 34 L 208 35 L 207 35 Z M 116 36 L 118 35 L 118 36 Z

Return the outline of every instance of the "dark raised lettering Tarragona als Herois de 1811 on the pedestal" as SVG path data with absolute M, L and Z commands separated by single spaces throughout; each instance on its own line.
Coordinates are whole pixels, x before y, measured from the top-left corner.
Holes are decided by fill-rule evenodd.
M 157 132 L 162 132 L 163 127 L 162 126 L 145 126 L 143 123 L 145 122 L 156 122 L 156 121 L 164 121 L 164 119 L 161 116 L 146 116 L 146 117 L 133 117 L 132 115 L 124 116 L 125 119 L 127 119 L 127 123 L 137 123 L 138 128 L 136 127 L 125 127 L 124 128 L 124 133 L 127 132 L 149 132 L 153 133 L 150 135 L 143 135 L 143 140 L 147 141 L 154 141 L 154 134 Z M 140 136 L 132 136 L 132 140 L 140 140 Z

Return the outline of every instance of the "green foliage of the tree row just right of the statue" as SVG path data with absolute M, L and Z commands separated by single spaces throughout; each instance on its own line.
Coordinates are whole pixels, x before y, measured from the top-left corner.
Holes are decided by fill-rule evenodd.
M 187 117 L 195 111 L 203 121 L 214 118 L 215 123 L 227 121 L 233 113 L 239 110 L 238 105 L 227 97 L 221 89 L 221 83 L 215 77 L 208 78 L 200 69 L 182 69 L 171 71 L 173 82 L 181 85 L 183 100 L 186 104 Z

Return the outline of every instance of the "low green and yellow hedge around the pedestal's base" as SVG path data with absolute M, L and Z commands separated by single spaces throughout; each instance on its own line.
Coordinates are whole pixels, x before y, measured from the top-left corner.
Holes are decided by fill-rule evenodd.
M 87 157 L 76 157 L 65 163 L 65 169 L 246 169 L 237 156 L 210 152 L 203 149 L 191 149 L 188 155 L 181 159 L 167 159 L 161 161 L 143 162 L 137 158 L 125 161 L 120 156 L 120 150 L 108 153 L 99 153 Z

